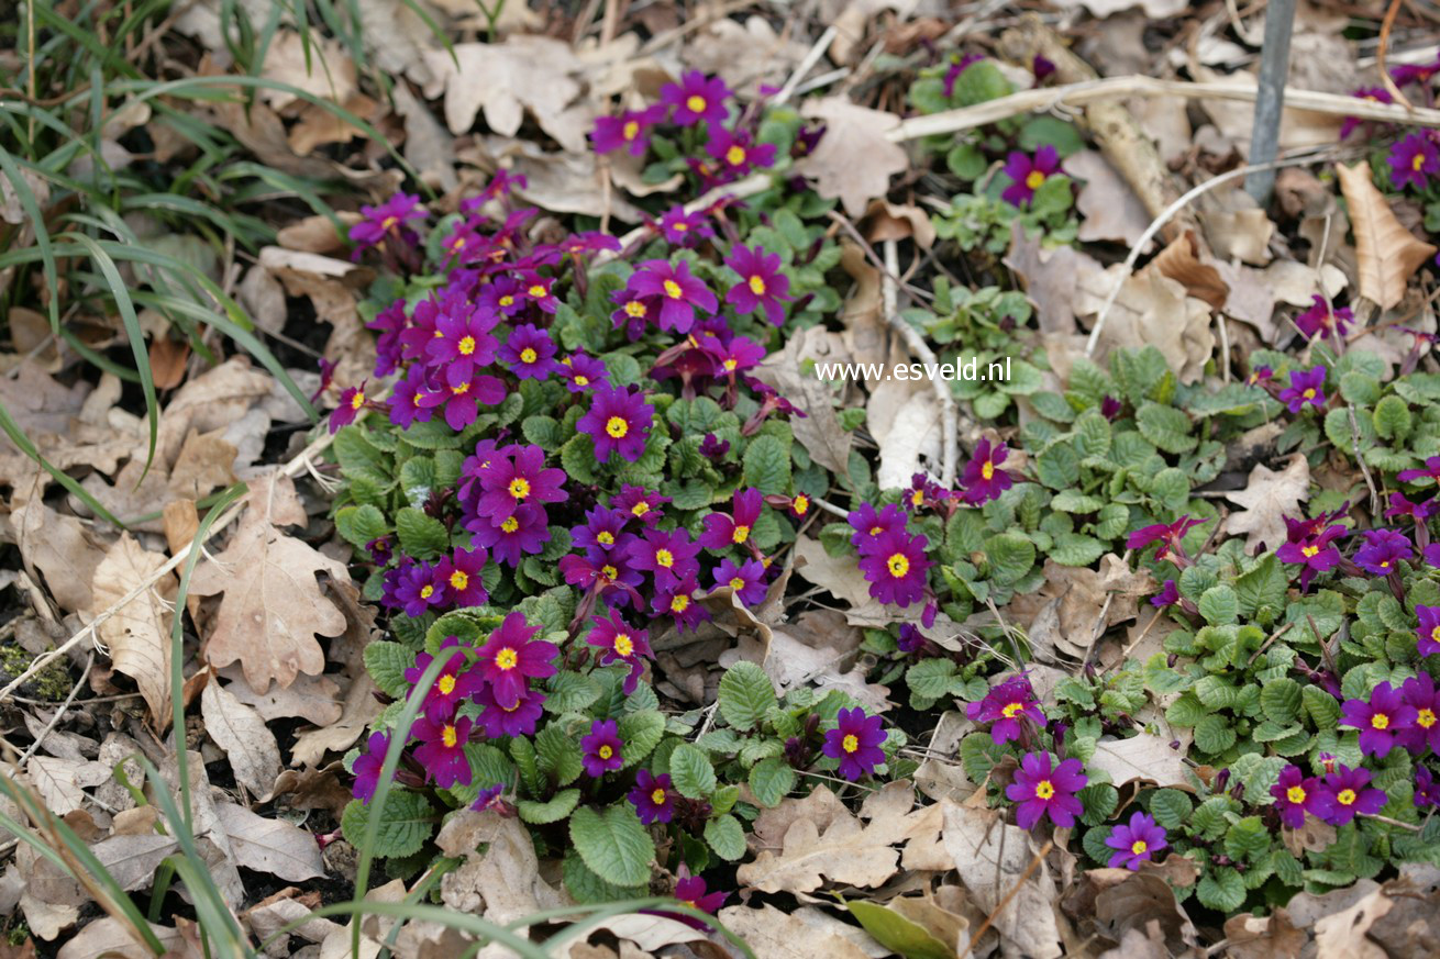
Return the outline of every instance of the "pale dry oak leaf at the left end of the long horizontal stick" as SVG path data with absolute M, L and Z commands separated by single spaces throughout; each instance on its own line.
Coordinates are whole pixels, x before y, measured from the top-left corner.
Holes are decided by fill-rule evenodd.
M 864 216 L 870 200 L 888 193 L 890 177 L 910 166 L 904 150 L 886 138 L 900 125 L 894 114 L 855 107 L 844 96 L 825 96 L 801 112 L 821 120 L 825 135 L 795 171 L 814 177 L 821 196 L 840 197 L 852 219 Z

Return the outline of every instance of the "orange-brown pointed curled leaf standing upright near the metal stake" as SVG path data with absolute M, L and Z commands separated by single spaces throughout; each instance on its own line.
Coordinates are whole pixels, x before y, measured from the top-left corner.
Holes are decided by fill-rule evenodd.
M 1436 248 L 1416 239 L 1400 225 L 1384 194 L 1375 189 L 1368 163 L 1354 167 L 1338 163 L 1335 176 L 1339 177 L 1355 230 L 1359 295 L 1377 302 L 1381 310 L 1391 310 L 1404 300 L 1405 281 L 1436 255 Z

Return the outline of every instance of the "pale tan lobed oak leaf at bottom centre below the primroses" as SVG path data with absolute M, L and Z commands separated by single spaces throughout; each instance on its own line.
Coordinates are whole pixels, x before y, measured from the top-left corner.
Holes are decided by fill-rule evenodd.
M 825 786 L 804 799 L 785 799 L 760 814 L 755 827 L 760 854 L 737 877 L 765 893 L 812 893 L 827 880 L 874 888 L 900 867 L 896 844 L 933 842 L 936 806 L 913 806 L 914 788 L 907 782 L 871 793 L 858 816 Z

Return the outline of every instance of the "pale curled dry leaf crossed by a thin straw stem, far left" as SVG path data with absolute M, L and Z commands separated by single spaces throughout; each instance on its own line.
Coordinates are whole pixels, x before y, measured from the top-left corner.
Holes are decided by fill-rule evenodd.
M 128 533 L 111 547 L 91 580 L 95 616 L 114 606 L 135 587 L 151 580 L 166 557 L 144 550 Z M 144 593 L 95 626 L 109 647 L 111 662 L 140 687 L 157 727 L 170 720 L 170 618 L 176 577 L 166 573 Z

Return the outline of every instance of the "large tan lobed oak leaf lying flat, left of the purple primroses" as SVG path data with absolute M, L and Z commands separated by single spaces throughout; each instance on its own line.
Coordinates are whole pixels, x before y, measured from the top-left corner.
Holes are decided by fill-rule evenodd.
M 190 580 L 197 596 L 225 593 L 206 658 L 217 668 L 239 661 L 255 690 L 268 690 L 271 680 L 289 685 L 298 672 L 324 672 L 315 635 L 338 636 L 346 628 L 315 580 L 321 572 L 348 580 L 344 563 L 276 528 L 304 518 L 289 478 L 258 482 L 230 544 Z

